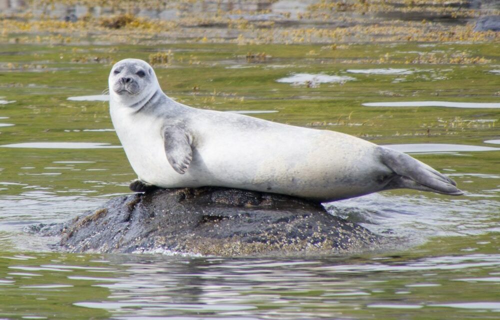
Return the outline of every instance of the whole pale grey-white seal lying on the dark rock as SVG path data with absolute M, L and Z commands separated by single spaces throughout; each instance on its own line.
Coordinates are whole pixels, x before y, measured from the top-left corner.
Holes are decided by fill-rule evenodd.
M 134 191 L 223 186 L 323 202 L 393 188 L 462 194 L 430 166 L 348 134 L 178 103 L 139 59 L 113 65 L 109 95 Z

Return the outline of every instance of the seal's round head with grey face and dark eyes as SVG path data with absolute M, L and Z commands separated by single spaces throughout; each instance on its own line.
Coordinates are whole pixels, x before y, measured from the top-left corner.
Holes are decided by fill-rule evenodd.
M 139 59 L 116 62 L 111 68 L 108 82 L 111 101 L 126 106 L 135 106 L 144 99 L 147 101 L 159 89 L 152 67 Z

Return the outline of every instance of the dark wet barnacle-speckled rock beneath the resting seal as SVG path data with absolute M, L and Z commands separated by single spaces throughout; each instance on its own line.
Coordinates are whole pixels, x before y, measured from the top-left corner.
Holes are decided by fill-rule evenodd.
M 119 196 L 86 215 L 32 232 L 70 252 L 203 255 L 346 253 L 376 247 L 367 229 L 308 200 L 219 187 Z

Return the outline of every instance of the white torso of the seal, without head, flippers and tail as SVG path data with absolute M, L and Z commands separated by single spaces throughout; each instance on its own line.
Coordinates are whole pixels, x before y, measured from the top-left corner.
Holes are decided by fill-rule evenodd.
M 211 111 L 201 113 L 205 112 L 206 117 L 198 114 L 189 122 L 193 154 L 184 174 L 172 168 L 164 152 L 161 127 L 168 120 L 123 113 L 119 121 L 113 119 L 141 180 L 165 188 L 217 185 L 342 198 L 376 191 L 378 183 L 369 177 L 374 171 L 389 172 L 374 159 L 376 145 L 353 136 L 222 112 L 213 117 Z M 241 119 L 241 127 L 234 127 Z

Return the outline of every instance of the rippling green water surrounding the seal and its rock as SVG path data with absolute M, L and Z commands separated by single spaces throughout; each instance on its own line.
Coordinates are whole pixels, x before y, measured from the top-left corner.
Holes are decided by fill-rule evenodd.
M 55 239 L 24 233 L 127 193 L 135 176 L 101 94 L 113 61 L 148 59 L 171 97 L 201 108 L 332 129 L 380 144 L 500 147 L 500 108 L 367 107 L 383 101 L 500 102 L 500 44 L 2 44 L 0 54 L 0 317 L 119 319 L 495 319 L 500 316 L 500 151 L 412 153 L 450 174 L 466 194 L 395 190 L 325 204 L 394 240 L 342 257 L 189 257 L 168 252 L 52 252 Z M 247 58 L 265 52 L 264 58 Z M 407 64 L 419 55 L 486 63 Z M 250 54 L 251 55 L 251 54 Z M 99 62 L 91 62 L 98 57 Z M 87 62 L 82 63 L 82 58 Z M 384 63 L 369 62 L 385 59 Z M 90 61 L 90 62 L 88 62 Z M 383 62 L 383 61 L 382 61 Z M 397 68 L 403 74 L 349 69 Z M 283 83 L 296 73 L 349 76 Z M 5 147 L 72 142 L 67 148 Z M 101 144 L 100 148 L 86 143 Z M 26 146 L 26 145 L 21 145 Z M 33 145 L 32 145 L 33 146 Z M 38 147 L 36 147 L 38 146 Z M 109 146 L 109 147 L 108 147 Z M 85 148 L 78 148 L 85 147 Z

